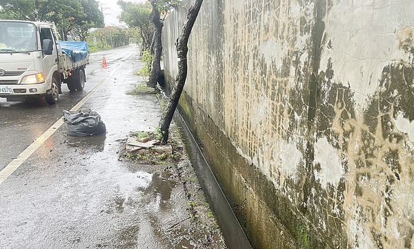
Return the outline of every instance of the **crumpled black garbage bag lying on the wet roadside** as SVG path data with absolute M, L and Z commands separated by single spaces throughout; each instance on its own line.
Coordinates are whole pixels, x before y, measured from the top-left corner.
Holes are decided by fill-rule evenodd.
M 106 133 L 105 123 L 101 116 L 91 110 L 79 111 L 72 114 L 63 110 L 63 121 L 68 124 L 68 135 L 74 137 L 86 137 Z

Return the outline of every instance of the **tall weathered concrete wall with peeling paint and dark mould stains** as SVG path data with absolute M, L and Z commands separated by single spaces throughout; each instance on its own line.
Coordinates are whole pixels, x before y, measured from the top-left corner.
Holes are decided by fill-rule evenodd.
M 204 0 L 189 49 L 181 112 L 256 248 L 414 248 L 414 0 Z

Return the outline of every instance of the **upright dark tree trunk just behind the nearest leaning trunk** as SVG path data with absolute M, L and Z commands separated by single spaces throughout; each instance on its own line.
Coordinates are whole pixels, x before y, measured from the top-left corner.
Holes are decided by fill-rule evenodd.
M 152 61 L 151 75 L 150 80 L 147 83 L 147 86 L 150 88 L 155 88 L 157 86 L 157 81 L 159 74 L 161 73 L 161 52 L 162 52 L 162 42 L 161 42 L 161 33 L 164 23 L 162 23 L 159 17 L 159 11 L 157 9 L 157 0 L 150 0 L 152 6 L 152 23 L 155 26 L 154 32 L 154 61 Z

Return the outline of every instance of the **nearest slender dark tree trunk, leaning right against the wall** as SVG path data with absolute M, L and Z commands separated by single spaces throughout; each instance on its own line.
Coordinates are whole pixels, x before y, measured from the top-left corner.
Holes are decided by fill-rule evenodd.
M 177 108 L 181 92 L 184 89 L 184 84 L 186 83 L 188 38 L 190 37 L 191 30 L 193 29 L 195 19 L 197 19 L 201 3 L 203 3 L 203 0 L 196 0 L 194 5 L 190 7 L 187 13 L 187 19 L 183 24 L 179 37 L 177 38 L 177 78 L 175 79 L 174 88 L 172 88 L 170 98 L 168 99 L 167 107 L 161 116 L 161 120 L 159 121 L 159 127 L 161 129 L 164 143 L 168 141 L 170 123 L 172 121 L 172 117 L 174 116 L 175 109 Z

